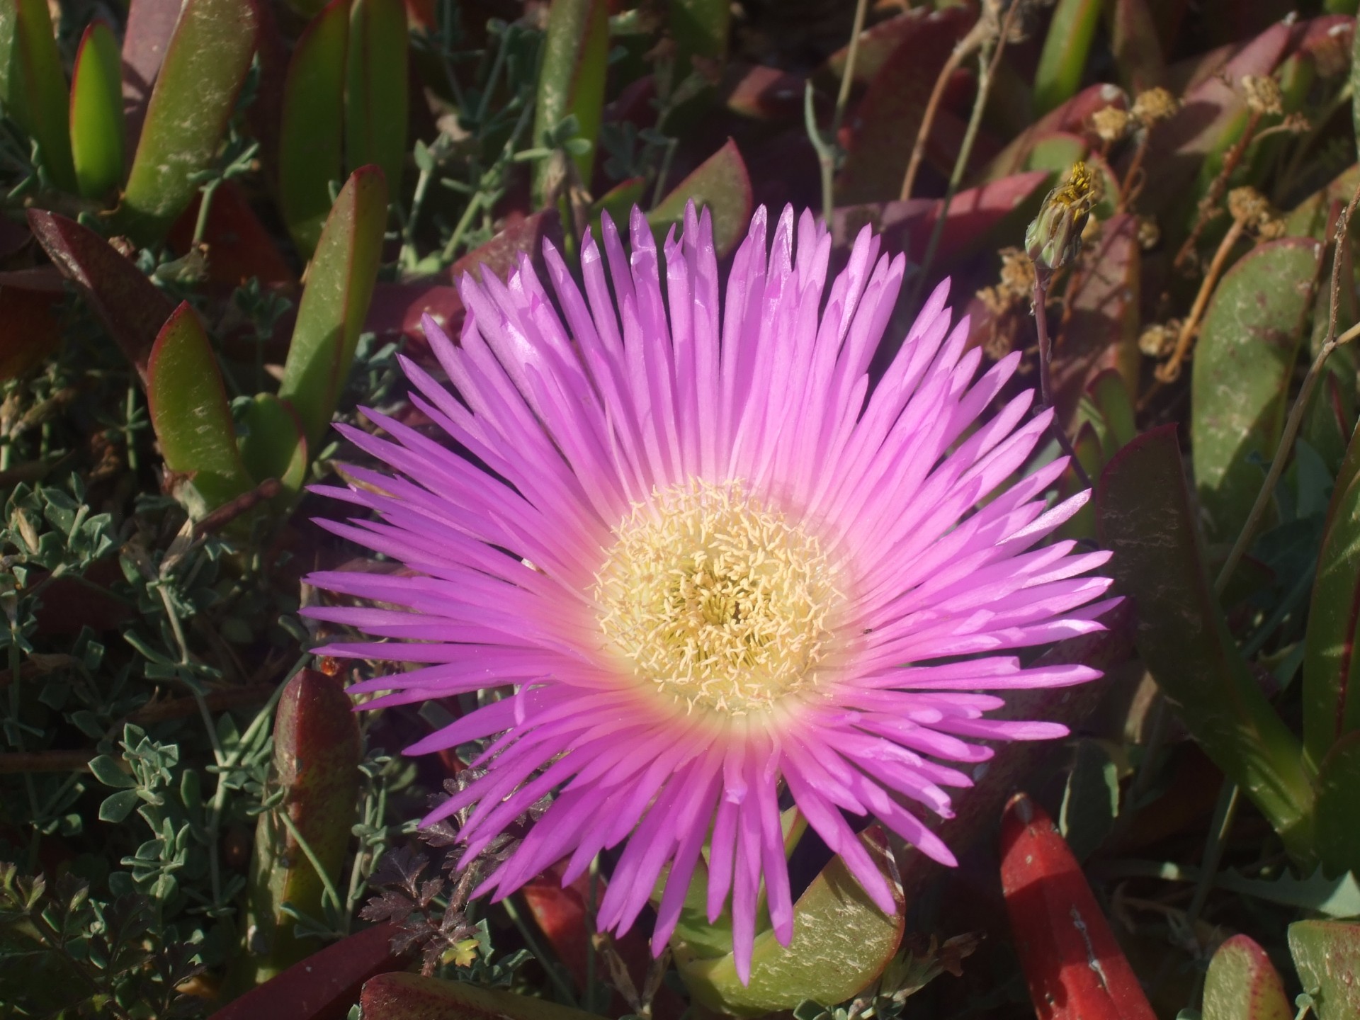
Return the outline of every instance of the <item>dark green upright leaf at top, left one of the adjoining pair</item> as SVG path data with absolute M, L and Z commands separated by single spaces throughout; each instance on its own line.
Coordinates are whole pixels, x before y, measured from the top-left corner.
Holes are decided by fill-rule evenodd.
M 348 42 L 350 0 L 332 0 L 298 39 L 283 86 L 279 211 L 303 258 L 330 212 L 330 182 L 344 177 Z

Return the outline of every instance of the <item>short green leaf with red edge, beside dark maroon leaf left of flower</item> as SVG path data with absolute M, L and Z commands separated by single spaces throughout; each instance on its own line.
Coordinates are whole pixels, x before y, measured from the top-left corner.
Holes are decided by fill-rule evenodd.
M 151 348 L 147 404 L 166 468 L 192 475 L 203 498 L 203 506 L 190 506 L 194 517 L 252 487 L 218 359 L 189 302 L 174 310 Z

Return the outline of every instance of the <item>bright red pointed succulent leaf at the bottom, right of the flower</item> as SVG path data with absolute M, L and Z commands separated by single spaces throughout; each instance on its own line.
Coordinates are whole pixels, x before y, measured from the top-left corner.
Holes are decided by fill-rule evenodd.
M 1001 816 L 1001 891 L 1039 1020 L 1156 1020 L 1081 865 L 1023 793 Z

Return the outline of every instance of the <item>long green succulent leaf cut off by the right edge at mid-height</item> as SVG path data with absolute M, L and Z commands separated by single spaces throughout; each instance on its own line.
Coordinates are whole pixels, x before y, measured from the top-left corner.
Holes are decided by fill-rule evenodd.
M 1352 438 L 1327 507 L 1303 656 L 1303 743 L 1314 766 L 1360 729 L 1360 438 Z M 1360 869 L 1357 869 L 1360 870 Z

